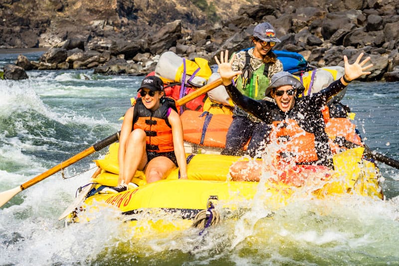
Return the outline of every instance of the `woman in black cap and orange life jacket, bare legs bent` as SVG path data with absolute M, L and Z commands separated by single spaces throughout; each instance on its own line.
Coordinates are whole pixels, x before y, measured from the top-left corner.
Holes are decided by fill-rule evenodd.
M 147 183 L 152 183 L 179 166 L 180 178 L 187 179 L 183 126 L 175 101 L 164 97 L 163 82 L 157 76 L 145 77 L 138 91 L 141 97 L 122 123 L 118 186 L 108 192 L 127 190 L 136 170 L 145 171 Z

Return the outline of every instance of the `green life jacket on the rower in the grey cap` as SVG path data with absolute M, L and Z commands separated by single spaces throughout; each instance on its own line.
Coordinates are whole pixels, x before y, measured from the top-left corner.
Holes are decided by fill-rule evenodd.
M 245 51 L 245 65 L 242 74 L 237 78 L 236 87 L 245 96 L 261 100 L 269 86 L 269 64 L 262 64 L 255 71 L 250 64 L 250 55 Z

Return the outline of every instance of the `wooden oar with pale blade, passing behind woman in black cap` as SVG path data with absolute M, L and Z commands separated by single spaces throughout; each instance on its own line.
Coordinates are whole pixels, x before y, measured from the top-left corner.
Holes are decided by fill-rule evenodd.
M 221 79 L 220 78 L 216 79 L 216 80 L 210 82 L 209 84 L 206 84 L 205 86 L 197 89 L 196 91 L 194 91 L 194 92 L 184 96 L 183 98 L 177 100 L 176 102 L 177 102 L 178 105 L 183 105 L 183 104 L 188 103 L 189 101 L 197 98 L 198 96 L 208 92 L 209 90 L 216 88 L 217 86 L 219 86 L 221 84 L 223 84 Z M 36 176 L 35 178 L 32 178 L 31 180 L 23 183 L 22 185 L 20 185 L 20 186 L 18 186 L 16 188 L 1 192 L 0 193 L 0 207 L 3 206 L 5 203 L 7 203 L 12 197 L 14 197 L 16 194 L 18 194 L 22 190 L 33 186 L 34 184 L 42 181 L 43 179 L 45 179 L 45 178 L 47 178 L 47 177 L 49 177 L 49 176 L 61 171 L 61 169 L 65 168 L 65 167 L 68 167 L 71 164 L 74 164 L 77 161 L 87 157 L 88 155 L 90 155 L 90 154 L 92 154 L 92 153 L 94 153 L 96 151 L 99 151 L 99 150 L 107 147 L 108 145 L 116 142 L 119 139 L 119 134 L 120 134 L 120 131 L 115 133 L 115 134 L 113 134 L 113 135 L 111 135 L 111 136 L 109 136 L 109 137 L 107 137 L 107 138 L 105 138 L 105 139 L 103 139 L 103 140 L 101 140 L 100 142 L 94 144 L 90 148 L 87 148 L 86 150 L 84 150 L 84 151 L 72 156 L 68 160 L 66 160 L 66 161 L 54 166 L 53 168 L 51 168 L 51 169 L 47 170 L 46 172 Z

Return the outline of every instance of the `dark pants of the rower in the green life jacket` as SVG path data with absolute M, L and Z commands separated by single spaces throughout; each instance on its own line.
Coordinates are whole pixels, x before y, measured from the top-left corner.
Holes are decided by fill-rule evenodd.
M 264 149 L 265 138 L 270 130 L 271 127 L 264 122 L 256 123 L 244 116 L 234 116 L 221 154 L 241 156 L 244 154 L 244 145 L 251 139 L 246 154 L 254 157 L 258 151 Z

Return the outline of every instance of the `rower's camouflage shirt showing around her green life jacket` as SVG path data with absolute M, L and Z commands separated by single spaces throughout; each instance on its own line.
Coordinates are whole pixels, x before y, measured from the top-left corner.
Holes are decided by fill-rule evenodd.
M 253 70 L 255 71 L 256 69 L 258 69 L 263 64 L 263 61 L 262 61 L 262 59 L 259 59 L 259 58 L 255 57 L 253 55 L 253 50 L 254 50 L 254 48 L 250 48 L 248 50 L 248 54 L 249 54 L 249 57 L 250 57 L 249 63 L 251 64 Z M 237 71 L 237 70 L 242 70 L 244 68 L 244 66 L 245 66 L 245 51 L 239 51 L 239 52 L 237 52 L 235 54 L 235 58 L 234 58 L 234 61 L 233 61 L 232 65 L 231 65 L 231 68 L 234 71 Z M 269 66 L 269 73 L 267 75 L 268 79 L 271 80 L 271 77 L 275 73 L 280 72 L 280 71 L 283 71 L 283 64 L 281 63 L 280 60 L 277 59 L 276 63 L 271 64 Z M 242 110 L 238 106 L 234 107 L 233 114 L 234 114 L 234 116 L 245 116 L 245 117 L 248 117 L 248 119 L 251 120 L 252 122 L 257 122 L 257 123 L 261 122 L 260 119 L 256 118 L 255 116 L 253 116 L 251 114 L 248 114 L 247 112 L 245 112 L 244 110 Z

